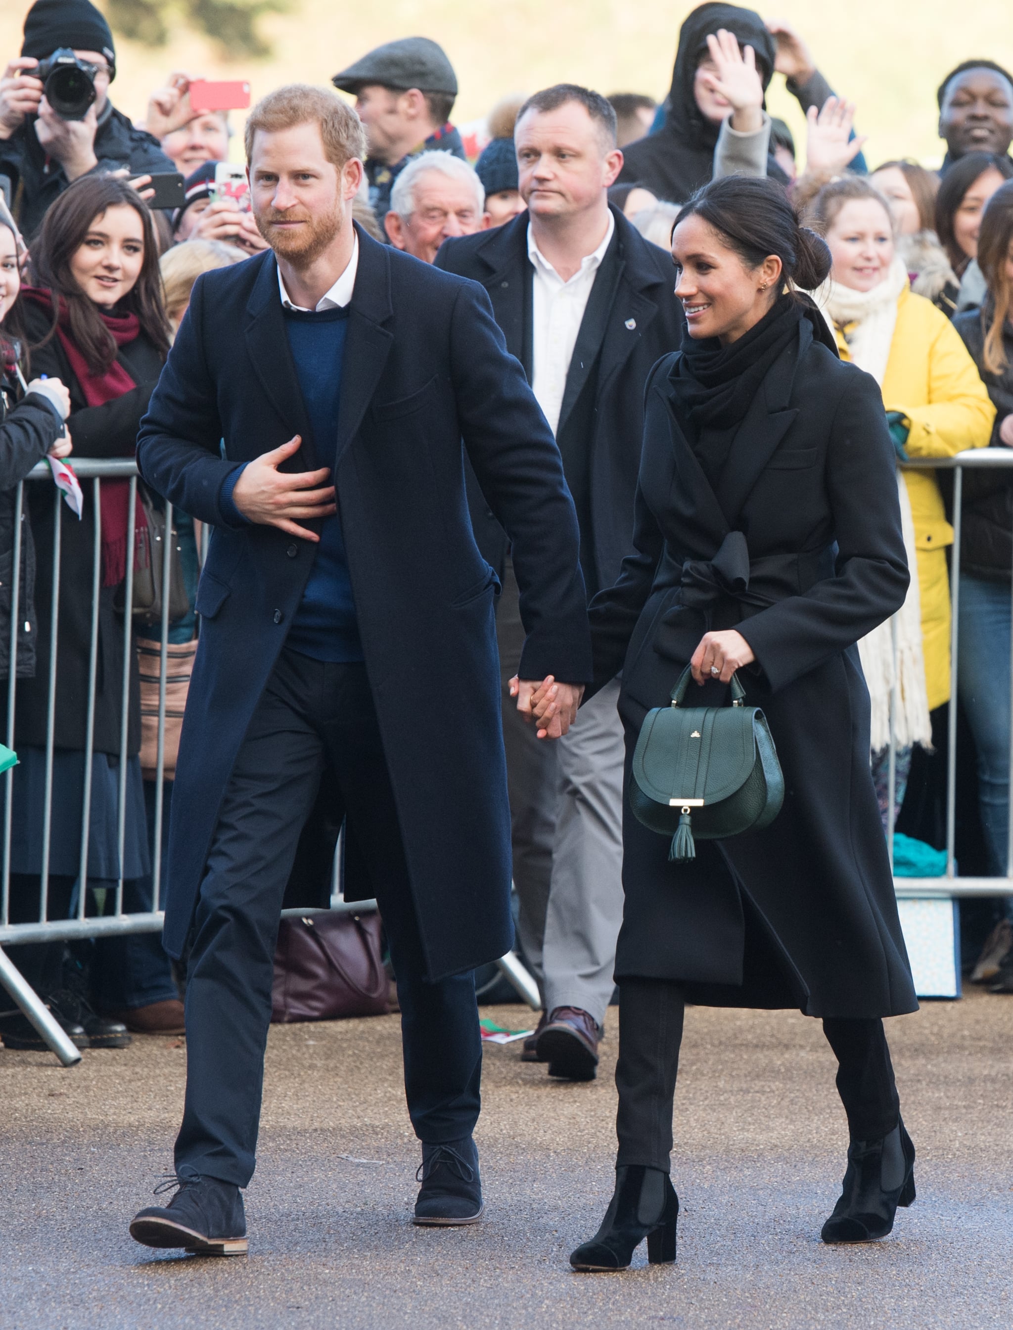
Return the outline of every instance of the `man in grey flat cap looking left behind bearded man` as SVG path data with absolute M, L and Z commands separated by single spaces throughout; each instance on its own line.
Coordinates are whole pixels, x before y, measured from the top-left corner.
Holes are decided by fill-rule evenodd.
M 383 226 L 391 190 L 412 157 L 452 153 L 464 160 L 461 136 L 449 122 L 457 76 L 443 47 L 428 37 L 404 37 L 376 47 L 331 80 L 355 96 L 366 126 L 370 206 Z

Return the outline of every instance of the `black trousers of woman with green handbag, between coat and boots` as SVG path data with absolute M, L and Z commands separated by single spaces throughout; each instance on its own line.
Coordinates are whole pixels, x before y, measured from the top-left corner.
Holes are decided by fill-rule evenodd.
M 669 1172 L 685 1007 L 682 988 L 665 979 L 627 979 L 619 984 L 617 1165 L 643 1164 Z M 828 1016 L 823 1032 L 838 1057 L 838 1093 L 851 1138 L 880 1140 L 900 1117 L 883 1021 Z

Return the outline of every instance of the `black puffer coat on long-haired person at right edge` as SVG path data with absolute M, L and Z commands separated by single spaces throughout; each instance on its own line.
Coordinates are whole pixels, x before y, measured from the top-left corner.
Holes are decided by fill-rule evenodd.
M 998 431 L 1008 415 L 1013 415 L 1013 329 L 1006 322 L 1002 344 L 1006 350 L 1006 368 L 992 374 L 985 368 L 985 330 L 992 314 L 990 303 L 981 310 L 965 310 L 953 319 L 953 327 L 964 338 L 988 395 L 996 404 L 996 423 L 989 447 L 1002 448 Z M 964 472 L 964 516 L 960 541 L 960 567 L 972 577 L 989 581 L 1009 581 L 1013 567 L 1013 468 L 988 468 Z

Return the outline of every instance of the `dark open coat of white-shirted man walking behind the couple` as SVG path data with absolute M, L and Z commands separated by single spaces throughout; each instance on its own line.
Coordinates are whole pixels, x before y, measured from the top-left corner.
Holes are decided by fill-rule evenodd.
M 598 290 L 606 265 L 588 301 L 573 348 L 562 410 L 556 431 L 566 443 L 569 423 L 581 415 L 586 436 L 574 440 L 588 451 L 592 565 L 598 587 L 610 587 L 630 548 L 633 496 L 641 456 L 643 384 L 651 366 L 674 351 L 686 325 L 675 299 L 671 255 L 645 241 L 622 213 L 616 218 L 616 265 L 612 287 Z M 532 379 L 532 265 L 528 258 L 528 213 L 493 231 L 444 241 L 436 266 L 481 282 L 489 293 L 506 348 Z M 590 378 L 593 402 L 581 412 L 581 395 Z M 471 477 L 473 480 L 473 477 Z M 500 571 L 506 536 L 476 484 L 469 485 L 472 523 L 479 548 Z M 585 552 L 585 567 L 588 553 Z

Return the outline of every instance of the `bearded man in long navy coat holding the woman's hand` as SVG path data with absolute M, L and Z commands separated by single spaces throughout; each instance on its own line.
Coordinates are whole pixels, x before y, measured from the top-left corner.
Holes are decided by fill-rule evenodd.
M 465 454 L 512 541 L 521 710 L 556 681 L 546 741 L 592 677 L 552 431 L 485 291 L 352 225 L 363 150 L 330 92 L 282 88 L 254 109 L 271 249 L 198 279 L 138 439 L 148 484 L 213 528 L 165 919 L 187 964 L 186 1103 L 175 1193 L 130 1225 L 149 1246 L 246 1250 L 279 911 L 324 771 L 346 899 L 379 900 L 397 978 L 415 1220 L 481 1217 L 472 970 L 513 928 L 499 584 Z

